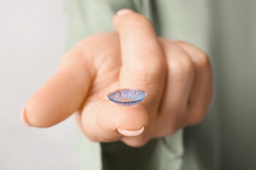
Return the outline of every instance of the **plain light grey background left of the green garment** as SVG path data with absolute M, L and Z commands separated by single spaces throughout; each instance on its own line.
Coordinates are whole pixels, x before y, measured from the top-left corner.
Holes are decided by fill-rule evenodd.
M 20 111 L 66 51 L 63 0 L 0 0 L 0 169 L 78 169 L 73 117 L 27 128 Z

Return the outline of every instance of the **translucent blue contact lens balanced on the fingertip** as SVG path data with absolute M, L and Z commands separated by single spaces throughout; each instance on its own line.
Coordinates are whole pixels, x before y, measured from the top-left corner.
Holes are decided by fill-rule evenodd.
M 146 97 L 146 91 L 137 89 L 119 89 L 107 94 L 110 101 L 122 106 L 136 105 Z

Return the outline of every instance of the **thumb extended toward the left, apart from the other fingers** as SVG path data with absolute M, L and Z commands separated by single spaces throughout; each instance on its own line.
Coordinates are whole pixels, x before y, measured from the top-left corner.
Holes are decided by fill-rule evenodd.
M 26 125 L 47 128 L 68 118 L 82 104 L 93 77 L 81 43 L 70 50 L 61 60 L 57 72 L 36 91 L 21 118 Z

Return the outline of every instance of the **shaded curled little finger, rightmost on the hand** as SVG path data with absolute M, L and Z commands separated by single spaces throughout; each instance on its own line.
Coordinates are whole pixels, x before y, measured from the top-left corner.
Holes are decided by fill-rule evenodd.
M 190 55 L 196 69 L 196 76 L 188 99 L 188 124 L 196 124 L 206 115 L 213 95 L 213 73 L 206 53 L 188 42 L 176 41 L 176 44 Z

